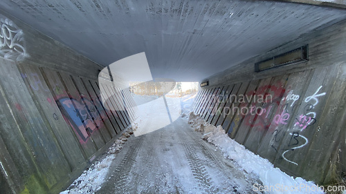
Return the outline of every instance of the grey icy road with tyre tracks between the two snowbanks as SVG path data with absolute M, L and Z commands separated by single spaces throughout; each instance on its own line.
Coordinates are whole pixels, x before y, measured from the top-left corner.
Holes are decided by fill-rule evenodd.
M 253 193 L 257 180 L 235 166 L 179 118 L 132 135 L 98 193 Z

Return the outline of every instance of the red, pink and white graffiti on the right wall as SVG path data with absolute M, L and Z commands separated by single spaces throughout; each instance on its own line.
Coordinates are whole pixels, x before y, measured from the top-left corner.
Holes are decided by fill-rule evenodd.
M 256 130 L 273 130 L 268 146 L 273 148 L 276 153 L 280 153 L 286 162 L 298 165 L 286 156 L 287 153 L 309 144 L 309 139 L 302 135 L 302 132 L 317 122 L 317 114 L 314 108 L 318 105 L 319 99 L 326 95 L 326 93 L 320 92 L 321 89 L 322 86 L 318 87 L 312 95 L 299 102 L 300 95 L 296 94 L 290 87 L 283 88 L 280 83 L 261 86 L 257 90 L 246 93 L 251 98 L 240 104 L 239 110 L 242 110 L 242 108 L 248 108 L 249 110 L 246 112 L 248 114 L 242 114 L 242 111 L 240 111 L 240 115 L 243 117 L 242 124 L 256 128 Z M 284 96 L 285 91 L 287 91 L 286 96 Z M 264 96 L 262 97 L 264 101 L 253 100 L 254 96 L 260 95 Z M 270 98 L 268 98 L 269 95 Z M 303 103 L 301 113 L 295 113 L 295 110 Z M 255 114 L 252 114 L 253 112 Z M 228 133 L 233 132 L 233 128 L 239 123 L 239 119 L 241 117 L 235 117 L 235 120 L 230 124 Z M 288 126 L 289 123 L 292 124 L 292 128 L 284 127 Z M 286 133 L 287 131 L 288 133 Z M 285 148 L 281 148 L 279 151 L 278 146 L 285 135 L 289 135 L 286 142 L 283 143 Z

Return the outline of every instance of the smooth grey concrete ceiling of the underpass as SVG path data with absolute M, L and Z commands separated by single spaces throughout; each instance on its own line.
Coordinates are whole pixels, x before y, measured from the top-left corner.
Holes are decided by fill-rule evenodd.
M 107 66 L 145 52 L 153 77 L 200 81 L 346 18 L 280 1 L 1 0 L 0 8 Z

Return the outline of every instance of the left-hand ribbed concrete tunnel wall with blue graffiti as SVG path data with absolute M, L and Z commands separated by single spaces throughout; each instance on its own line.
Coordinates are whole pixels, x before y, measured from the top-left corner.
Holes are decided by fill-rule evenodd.
M 98 86 L 93 61 L 1 10 L 0 23 L 0 193 L 57 193 L 135 117 L 104 108 L 99 88 L 112 106 L 133 101 Z

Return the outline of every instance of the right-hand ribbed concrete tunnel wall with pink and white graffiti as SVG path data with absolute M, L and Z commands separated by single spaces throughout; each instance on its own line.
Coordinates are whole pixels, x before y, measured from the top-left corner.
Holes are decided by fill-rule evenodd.
M 343 21 L 203 80 L 194 112 L 290 175 L 335 182 L 345 175 L 345 35 Z M 305 44 L 309 61 L 255 72 Z

